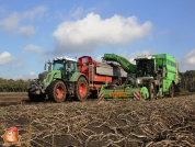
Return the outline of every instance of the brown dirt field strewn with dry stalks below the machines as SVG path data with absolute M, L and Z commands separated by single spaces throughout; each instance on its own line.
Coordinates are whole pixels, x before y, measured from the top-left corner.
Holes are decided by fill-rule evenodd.
M 30 103 L 0 93 L 0 136 L 16 126 L 24 147 L 195 147 L 195 95 Z

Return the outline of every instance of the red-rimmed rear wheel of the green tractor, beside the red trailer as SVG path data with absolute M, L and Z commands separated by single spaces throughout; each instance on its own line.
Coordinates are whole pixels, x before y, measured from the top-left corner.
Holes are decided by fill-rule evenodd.
M 85 101 L 89 97 L 89 83 L 84 77 L 80 77 L 76 84 L 76 100 Z

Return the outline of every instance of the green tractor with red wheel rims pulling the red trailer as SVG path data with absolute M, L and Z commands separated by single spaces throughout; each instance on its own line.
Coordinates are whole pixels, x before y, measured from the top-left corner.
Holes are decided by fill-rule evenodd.
M 89 82 L 82 72 L 78 71 L 77 60 L 57 57 L 45 64 L 45 70 L 34 79 L 27 89 L 31 101 L 43 101 L 46 97 L 55 102 L 62 102 L 72 97 L 84 101 L 89 95 Z

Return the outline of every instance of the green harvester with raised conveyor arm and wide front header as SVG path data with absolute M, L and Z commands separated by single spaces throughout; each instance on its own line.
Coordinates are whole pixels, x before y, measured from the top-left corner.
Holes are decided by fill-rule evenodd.
M 179 66 L 174 57 L 168 54 L 138 56 L 136 65 L 126 58 L 104 54 L 103 60 L 117 61 L 128 74 L 123 86 L 104 84 L 100 90 L 100 99 L 157 99 L 164 95 L 174 97 L 174 88 L 179 83 Z

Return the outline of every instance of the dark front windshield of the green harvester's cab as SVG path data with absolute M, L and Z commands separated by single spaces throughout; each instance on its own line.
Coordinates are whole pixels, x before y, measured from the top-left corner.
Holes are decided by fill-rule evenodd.
M 154 60 L 153 59 L 139 59 L 136 60 L 137 77 L 153 77 Z

